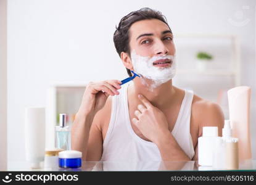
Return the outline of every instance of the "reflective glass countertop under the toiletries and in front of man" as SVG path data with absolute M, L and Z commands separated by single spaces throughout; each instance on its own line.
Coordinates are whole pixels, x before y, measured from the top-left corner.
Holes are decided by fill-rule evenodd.
M 188 162 L 82 162 L 77 169 L 59 167 L 31 169 L 28 162 L 9 162 L 7 171 L 214 171 L 213 167 L 201 167 L 197 161 Z M 241 171 L 256 171 L 256 160 L 242 160 L 239 163 Z

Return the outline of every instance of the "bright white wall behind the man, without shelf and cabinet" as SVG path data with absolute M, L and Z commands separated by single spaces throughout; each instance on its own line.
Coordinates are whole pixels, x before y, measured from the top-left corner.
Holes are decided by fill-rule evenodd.
M 237 12 L 244 9 L 244 17 Z M 115 25 L 132 10 L 162 11 L 174 35 L 233 34 L 241 40 L 242 84 L 255 94 L 255 1 L 64 1 L 9 0 L 7 8 L 9 161 L 24 160 L 24 108 L 45 106 L 54 81 L 126 78 L 115 52 Z M 240 17 L 239 17 L 240 16 Z M 249 19 L 237 27 L 229 19 Z M 252 99 L 255 112 L 255 95 Z M 255 126 L 252 145 L 256 158 Z M 17 155 L 19 151 L 19 155 Z

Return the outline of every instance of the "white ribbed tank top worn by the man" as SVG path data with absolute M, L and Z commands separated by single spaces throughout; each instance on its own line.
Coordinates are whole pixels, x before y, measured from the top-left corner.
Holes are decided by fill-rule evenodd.
M 127 89 L 124 84 L 118 96 L 112 97 L 109 128 L 103 143 L 102 161 L 160 161 L 160 151 L 154 142 L 146 141 L 134 133 L 128 111 Z M 190 134 L 193 92 L 185 90 L 180 112 L 171 131 L 181 149 L 192 159 L 194 147 Z

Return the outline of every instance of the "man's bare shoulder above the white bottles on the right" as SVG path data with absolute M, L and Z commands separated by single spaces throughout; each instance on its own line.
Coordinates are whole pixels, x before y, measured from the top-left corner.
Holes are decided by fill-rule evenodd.
M 224 115 L 220 105 L 194 94 L 191 109 L 192 118 L 199 126 L 199 135 L 202 134 L 202 126 L 218 126 L 221 134 Z

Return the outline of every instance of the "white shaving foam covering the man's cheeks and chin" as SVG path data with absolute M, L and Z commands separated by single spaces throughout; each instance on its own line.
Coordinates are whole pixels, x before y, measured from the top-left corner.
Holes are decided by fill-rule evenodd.
M 155 67 L 153 63 L 156 60 L 169 59 L 172 61 L 171 67 Z M 156 88 L 162 83 L 165 83 L 175 76 L 176 73 L 176 62 L 174 55 L 159 55 L 154 57 L 143 57 L 136 54 L 133 50 L 131 52 L 131 61 L 135 73 L 142 76 L 141 80 L 143 84 L 152 88 Z M 151 84 L 146 83 L 147 78 L 152 81 Z

